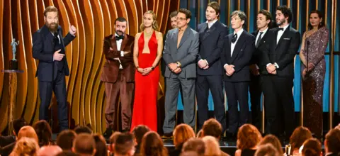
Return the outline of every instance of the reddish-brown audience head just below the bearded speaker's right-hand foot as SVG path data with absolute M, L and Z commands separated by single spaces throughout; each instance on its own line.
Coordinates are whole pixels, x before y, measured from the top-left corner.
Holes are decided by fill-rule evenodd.
M 76 135 L 73 130 L 62 130 L 57 136 L 57 145 L 59 145 L 62 150 L 72 150 L 73 140 L 76 138 Z

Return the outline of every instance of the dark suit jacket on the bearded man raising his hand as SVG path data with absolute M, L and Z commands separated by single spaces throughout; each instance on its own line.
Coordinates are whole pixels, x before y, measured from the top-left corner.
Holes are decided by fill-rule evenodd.
M 57 33 L 60 37 L 60 43 L 62 45 L 62 51 L 65 52 L 65 47 L 74 40 L 75 36 L 67 33 L 65 38 L 62 38 L 62 27 L 58 26 Z M 41 82 L 52 82 L 54 77 L 57 77 L 57 69 L 55 68 L 55 62 L 53 55 L 55 53 L 55 43 L 53 41 L 54 36 L 47 28 L 46 25 L 42 26 L 38 31 L 33 34 L 33 57 L 39 60 L 38 69 L 35 77 L 38 77 Z M 67 64 L 66 55 L 60 61 L 64 64 L 62 72 L 65 75 L 69 75 L 69 65 Z M 55 72 L 55 73 L 52 73 Z M 52 75 L 54 74 L 54 77 Z

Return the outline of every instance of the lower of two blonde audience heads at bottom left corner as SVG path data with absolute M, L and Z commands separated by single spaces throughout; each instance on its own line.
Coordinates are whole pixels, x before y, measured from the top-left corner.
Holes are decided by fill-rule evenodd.
M 23 137 L 18 142 L 16 142 L 16 146 L 14 147 L 11 155 L 30 155 L 35 156 L 38 154 L 39 145 L 36 140 L 33 138 Z

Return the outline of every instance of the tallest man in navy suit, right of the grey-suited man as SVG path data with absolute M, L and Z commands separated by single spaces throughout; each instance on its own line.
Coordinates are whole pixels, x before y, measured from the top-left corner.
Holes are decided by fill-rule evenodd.
M 198 25 L 200 33 L 200 50 L 198 52 L 198 67 L 196 79 L 196 99 L 198 106 L 198 129 L 208 120 L 209 89 L 214 101 L 215 117 L 226 129 L 225 104 L 223 96 L 223 69 L 220 61 L 223 48 L 223 38 L 228 34 L 228 27 L 218 21 L 220 5 L 213 1 L 205 11 L 207 22 Z

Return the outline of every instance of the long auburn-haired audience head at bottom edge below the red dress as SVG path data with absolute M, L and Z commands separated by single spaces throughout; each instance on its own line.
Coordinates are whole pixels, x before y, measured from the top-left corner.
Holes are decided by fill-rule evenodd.
M 156 132 L 149 131 L 142 138 L 140 154 L 142 156 L 168 155 L 168 150 L 164 147 L 161 137 Z

